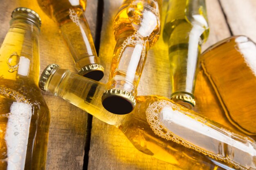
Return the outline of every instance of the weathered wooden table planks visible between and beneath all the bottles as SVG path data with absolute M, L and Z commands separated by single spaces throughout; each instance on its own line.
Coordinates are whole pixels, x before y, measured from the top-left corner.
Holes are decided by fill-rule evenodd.
M 89 22 L 107 82 L 115 40 L 112 20 L 122 0 L 88 0 Z M 41 71 L 51 63 L 75 72 L 71 53 L 56 23 L 43 13 L 36 0 L 0 0 L 0 42 L 9 28 L 16 7 L 34 9 L 42 18 L 40 33 Z M 247 35 L 256 42 L 255 0 L 206 0 L 210 35 L 203 50 L 230 35 Z M 166 1 L 164 2 L 166 8 Z M 163 10 L 164 11 L 164 10 Z M 163 16 L 164 18 L 164 16 Z M 162 38 L 148 52 L 138 88 L 139 95 L 170 97 L 171 84 L 166 46 Z M 47 170 L 178 170 L 168 163 L 139 152 L 113 126 L 88 116 L 52 94 L 43 93 L 51 112 Z

